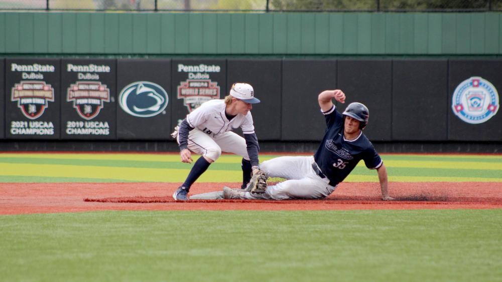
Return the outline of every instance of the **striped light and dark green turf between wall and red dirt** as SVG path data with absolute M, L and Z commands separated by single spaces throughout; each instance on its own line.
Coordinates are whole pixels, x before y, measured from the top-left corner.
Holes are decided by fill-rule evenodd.
M 199 156 L 194 155 L 194 159 Z M 261 155 L 265 161 L 278 155 Z M 502 155 L 384 154 L 390 181 L 502 181 Z M 222 155 L 199 181 L 241 180 L 240 156 Z M 178 154 L 0 153 L 0 182 L 183 182 Z M 346 182 L 376 181 L 364 162 Z

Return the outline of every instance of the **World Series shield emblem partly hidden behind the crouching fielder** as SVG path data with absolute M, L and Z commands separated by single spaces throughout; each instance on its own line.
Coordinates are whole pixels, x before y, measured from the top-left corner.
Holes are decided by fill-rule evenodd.
M 219 99 L 220 87 L 209 79 L 188 79 L 178 86 L 178 99 L 192 112 L 202 103 L 211 99 Z

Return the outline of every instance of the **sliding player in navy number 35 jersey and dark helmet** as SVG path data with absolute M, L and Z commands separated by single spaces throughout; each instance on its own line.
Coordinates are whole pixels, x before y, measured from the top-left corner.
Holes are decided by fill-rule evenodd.
M 319 199 L 331 194 L 360 160 L 366 167 L 376 169 L 383 200 L 389 196 L 387 170 L 371 142 L 362 133 L 368 123 L 369 111 L 361 103 L 351 103 L 340 114 L 331 102 L 334 98 L 345 103 L 341 90 L 323 91 L 318 96 L 321 112 L 326 119 L 326 133 L 313 156 L 279 157 L 263 162 L 260 169 L 270 177 L 286 178 L 273 186 L 254 185 L 254 189 L 223 188 L 225 199 Z M 256 174 L 259 176 L 259 174 Z M 251 182 L 260 180 L 253 177 Z M 249 185 L 251 187 L 252 185 Z

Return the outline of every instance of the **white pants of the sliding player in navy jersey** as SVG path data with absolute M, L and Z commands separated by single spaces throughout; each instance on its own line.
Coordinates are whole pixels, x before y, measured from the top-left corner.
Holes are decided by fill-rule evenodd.
M 268 186 L 263 194 L 245 193 L 247 199 L 320 199 L 331 194 L 336 186 L 328 178 L 321 178 L 312 168 L 314 156 L 279 157 L 264 161 L 260 169 L 270 177 L 286 181 Z

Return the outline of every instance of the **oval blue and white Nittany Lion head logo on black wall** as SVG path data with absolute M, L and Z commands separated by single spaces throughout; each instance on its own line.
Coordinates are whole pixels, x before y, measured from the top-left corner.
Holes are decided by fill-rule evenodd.
M 148 81 L 138 81 L 124 87 L 118 104 L 124 112 L 140 118 L 156 116 L 167 107 L 169 98 L 161 86 Z

